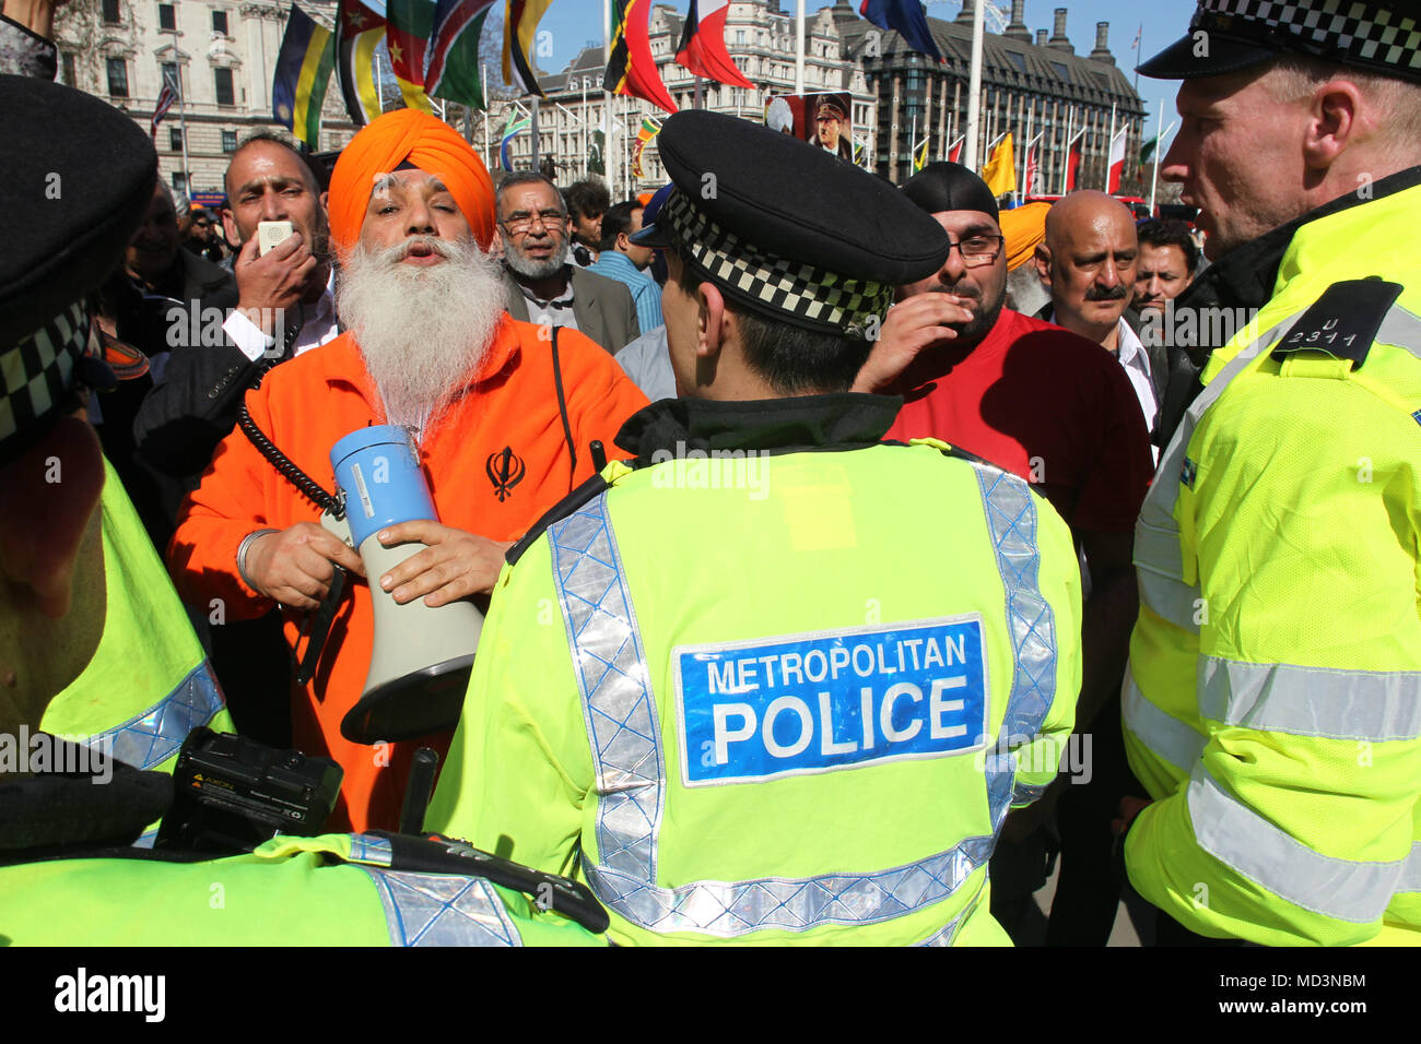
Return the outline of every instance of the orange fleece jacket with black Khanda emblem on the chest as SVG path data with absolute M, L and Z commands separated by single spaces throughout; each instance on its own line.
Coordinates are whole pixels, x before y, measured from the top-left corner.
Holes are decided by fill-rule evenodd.
M 539 337 L 541 330 L 504 317 L 477 379 L 425 437 L 421 463 L 445 526 L 490 540 L 517 540 L 591 477 L 588 443 L 600 439 L 608 457 L 615 457 L 617 430 L 647 405 L 647 396 L 611 355 L 576 331 L 560 331 L 563 389 L 577 449 L 574 474 L 557 408 L 551 345 Z M 281 364 L 259 389 L 247 392 L 252 419 L 327 491 L 335 489 L 331 446 L 378 423 L 378 402 L 351 334 Z M 507 483 L 500 499 L 493 476 L 500 473 L 497 457 L 506 449 L 523 462 L 523 477 Z M 507 469 L 502 472 L 507 474 Z M 183 504 L 168 553 L 173 581 L 183 599 L 203 612 L 220 598 L 232 619 L 259 616 L 270 611 L 271 601 L 237 575 L 242 538 L 257 528 L 284 530 L 318 518 L 315 506 L 234 429 Z M 293 682 L 293 739 L 307 754 L 330 756 L 345 770 L 331 830 L 392 830 L 416 744 L 396 743 L 377 751 L 341 736 L 341 719 L 360 699 L 369 670 L 374 621 L 369 587 L 357 577 L 351 581 L 354 597 L 347 597 L 335 616 L 315 676 L 304 693 Z M 304 616 L 286 614 L 293 649 Z M 448 737 L 441 746 L 448 746 Z

